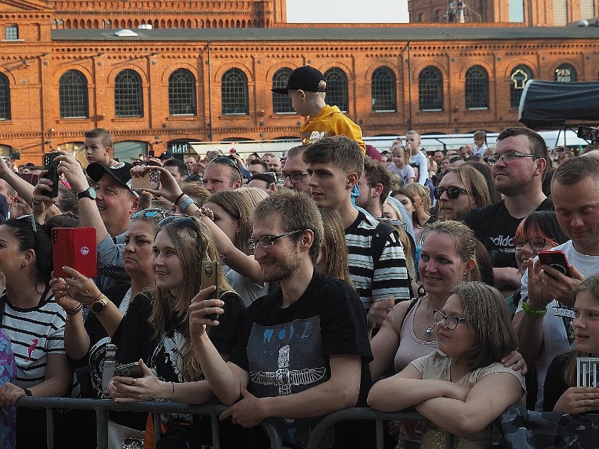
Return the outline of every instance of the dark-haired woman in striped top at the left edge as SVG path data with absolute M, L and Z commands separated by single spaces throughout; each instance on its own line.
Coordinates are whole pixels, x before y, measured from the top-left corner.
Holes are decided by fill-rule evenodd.
M 6 287 L 0 297 L 0 328 L 11 340 L 17 377 L 0 388 L 0 406 L 22 396 L 78 396 L 79 386 L 67 362 L 63 335 L 66 315 L 49 281 L 52 271 L 51 226 L 32 215 L 0 225 L 0 271 Z M 56 422 L 56 434 L 62 426 Z M 46 447 L 46 412 L 18 408 L 17 441 L 22 448 Z

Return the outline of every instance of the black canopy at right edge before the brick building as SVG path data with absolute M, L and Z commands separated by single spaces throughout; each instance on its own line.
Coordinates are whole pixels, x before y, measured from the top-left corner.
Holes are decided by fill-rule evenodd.
M 599 82 L 529 80 L 518 120 L 531 129 L 558 129 L 599 122 Z

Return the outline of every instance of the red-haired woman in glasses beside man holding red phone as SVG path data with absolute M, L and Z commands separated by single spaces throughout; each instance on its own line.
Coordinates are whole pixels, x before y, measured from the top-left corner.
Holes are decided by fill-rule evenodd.
M 553 211 L 532 212 L 518 226 L 514 235 L 514 247 L 518 273 L 522 277 L 528 268 L 528 259 L 534 259 L 541 251 L 555 248 L 569 240 L 564 234 Z M 512 318 L 522 300 L 522 289 L 505 299 Z

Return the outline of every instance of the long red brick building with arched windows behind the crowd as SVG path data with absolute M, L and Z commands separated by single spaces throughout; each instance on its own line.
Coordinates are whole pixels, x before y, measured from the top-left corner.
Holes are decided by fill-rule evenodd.
M 517 125 L 526 79 L 599 79 L 595 27 L 404 24 L 307 30 L 271 26 L 278 22 L 271 7 L 264 27 L 253 22 L 231 27 L 231 20 L 243 20 L 233 13 L 228 28 L 163 29 L 162 13 L 152 12 L 136 20 L 151 19 L 152 25 L 159 20 L 159 27 L 123 32 L 102 28 L 101 21 L 94 28 L 91 13 L 82 13 L 92 20 L 91 28 L 56 29 L 53 20 L 63 13 L 51 3 L 0 1 L 5 37 L 0 148 L 3 155 L 18 148 L 23 161 L 37 163 L 43 152 L 77 148 L 83 132 L 96 126 L 112 131 L 122 160 L 147 150 L 188 152 L 190 141 L 296 137 L 302 118 L 286 96 L 273 96 L 270 89 L 284 86 L 291 70 L 306 64 L 326 74 L 328 103 L 347 111 L 365 136 L 408 129 L 499 131 Z M 238 3 L 247 4 L 246 20 L 254 6 L 264 5 Z M 219 5 L 231 11 L 226 5 L 238 3 Z M 110 11 L 122 9 L 106 4 Z M 72 25 L 75 12 L 69 14 Z M 118 20 L 134 20 L 127 14 Z M 196 18 L 206 25 L 211 14 Z M 165 20 L 188 20 L 171 15 Z M 110 17 L 114 24 L 117 15 Z

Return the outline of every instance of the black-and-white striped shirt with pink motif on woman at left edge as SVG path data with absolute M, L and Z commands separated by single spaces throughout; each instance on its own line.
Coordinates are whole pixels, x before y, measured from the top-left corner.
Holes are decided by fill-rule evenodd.
M 30 388 L 46 379 L 49 354 L 65 354 L 66 315 L 56 304 L 53 295 L 33 308 L 19 308 L 10 304 L 6 289 L 0 297 L 2 330 L 11 339 L 17 362 L 15 385 Z M 73 378 L 75 393 L 79 395 L 79 384 Z

